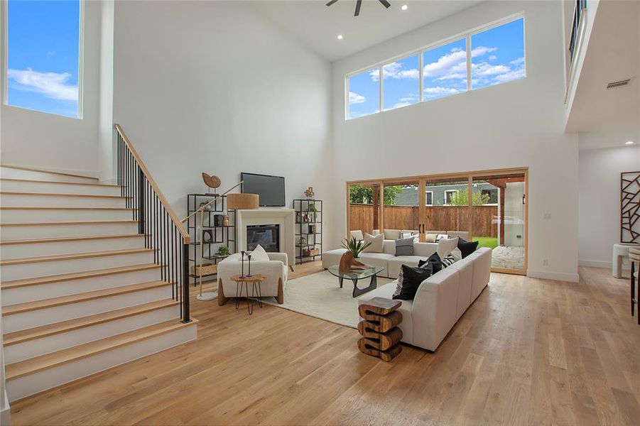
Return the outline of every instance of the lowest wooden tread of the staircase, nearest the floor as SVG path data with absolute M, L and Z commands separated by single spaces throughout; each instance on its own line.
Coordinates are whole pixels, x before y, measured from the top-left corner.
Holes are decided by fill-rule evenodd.
M 15 380 L 23 376 L 28 376 L 38 371 L 43 371 L 47 368 L 60 366 L 72 361 L 87 358 L 100 354 L 109 349 L 115 349 L 126 344 L 132 344 L 135 342 L 141 342 L 145 339 L 158 336 L 167 332 L 173 332 L 183 327 L 189 327 L 190 325 L 197 323 L 197 320 L 192 319 L 192 322 L 183 324 L 180 320 L 169 320 L 158 324 L 153 324 L 148 327 L 136 329 L 131 332 L 117 334 L 116 336 L 100 339 L 95 342 L 81 344 L 79 346 L 73 346 L 72 348 L 63 349 L 61 351 L 53 352 L 51 354 L 45 354 L 37 356 L 36 358 L 26 359 L 14 364 L 8 364 L 6 366 L 6 380 Z

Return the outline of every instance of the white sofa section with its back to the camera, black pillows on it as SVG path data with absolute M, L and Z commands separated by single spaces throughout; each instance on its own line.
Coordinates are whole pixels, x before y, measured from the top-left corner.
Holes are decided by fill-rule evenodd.
M 401 300 L 398 310 L 402 312 L 402 322 L 398 327 L 402 330 L 402 342 L 429 351 L 438 349 L 450 329 L 489 283 L 491 253 L 486 247 L 477 249 L 424 280 L 413 300 Z M 369 263 L 368 260 L 364 262 Z M 391 299 L 396 283 L 394 280 L 360 296 L 358 304 L 374 297 Z

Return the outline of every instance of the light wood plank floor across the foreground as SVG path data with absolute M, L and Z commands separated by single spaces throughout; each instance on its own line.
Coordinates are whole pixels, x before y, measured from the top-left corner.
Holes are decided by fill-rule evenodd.
M 580 276 L 493 274 L 435 354 L 403 346 L 391 363 L 354 329 L 194 300 L 197 342 L 13 403 L 13 424 L 639 425 L 628 281 Z

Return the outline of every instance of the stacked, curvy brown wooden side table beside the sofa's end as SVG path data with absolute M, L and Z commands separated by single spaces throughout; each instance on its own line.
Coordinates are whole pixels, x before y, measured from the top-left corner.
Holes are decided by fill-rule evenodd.
M 402 330 L 397 327 L 402 322 L 402 312 L 398 307 L 402 302 L 374 297 L 364 305 L 359 305 L 358 313 L 364 319 L 358 323 L 358 349 L 363 354 L 378 356 L 389 362 L 402 351 L 400 341 Z

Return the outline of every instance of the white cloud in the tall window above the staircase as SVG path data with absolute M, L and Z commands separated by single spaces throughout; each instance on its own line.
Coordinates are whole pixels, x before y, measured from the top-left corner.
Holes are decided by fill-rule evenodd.
M 68 72 L 38 72 L 31 68 L 26 70 L 8 70 L 7 77 L 13 89 L 43 94 L 51 99 L 77 101 L 77 85 L 69 84 L 71 75 Z

